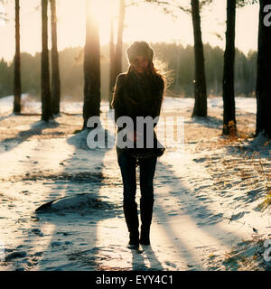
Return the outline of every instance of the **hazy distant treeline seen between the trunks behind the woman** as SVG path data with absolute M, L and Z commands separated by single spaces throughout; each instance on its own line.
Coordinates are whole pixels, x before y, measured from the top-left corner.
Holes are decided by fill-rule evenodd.
M 174 97 L 192 97 L 194 79 L 193 47 L 182 47 L 177 44 L 151 43 L 155 57 L 166 64 L 169 74 L 167 91 Z M 123 63 L 127 68 L 124 44 Z M 63 98 L 70 100 L 83 99 L 83 69 L 80 53 L 83 48 L 67 48 L 59 51 L 61 91 Z M 220 47 L 204 45 L 205 70 L 207 75 L 207 91 L 210 96 L 221 96 L 223 77 L 223 51 Z M 40 98 L 41 90 L 41 53 L 34 56 L 23 52 L 22 61 L 22 93 L 28 93 L 33 98 Z M 108 99 L 109 85 L 109 48 L 101 46 L 101 98 Z M 250 51 L 246 56 L 242 51 L 236 51 L 235 91 L 236 96 L 255 98 L 257 52 Z M 0 97 L 13 94 L 14 61 L 0 61 Z M 171 94 L 172 93 L 172 94 Z

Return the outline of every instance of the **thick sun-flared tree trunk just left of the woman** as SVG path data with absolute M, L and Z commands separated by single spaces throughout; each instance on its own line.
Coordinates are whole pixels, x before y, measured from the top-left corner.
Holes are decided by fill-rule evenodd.
M 94 1 L 94 0 L 92 0 Z M 83 129 L 87 128 L 89 117 L 100 116 L 100 49 L 98 38 L 98 26 L 91 16 L 91 3 L 86 2 L 87 26 L 84 60 L 84 106 Z

